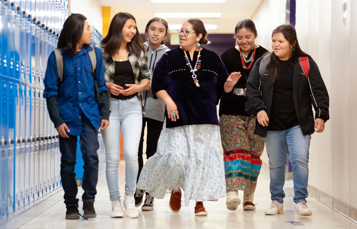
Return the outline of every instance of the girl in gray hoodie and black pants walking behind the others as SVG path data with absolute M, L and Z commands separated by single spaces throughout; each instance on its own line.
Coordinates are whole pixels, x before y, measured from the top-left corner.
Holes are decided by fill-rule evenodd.
M 156 64 L 161 59 L 161 56 L 169 51 L 170 49 L 164 45 L 164 39 L 168 37 L 168 23 L 165 19 L 160 17 L 155 17 L 149 20 L 146 24 L 145 34 L 147 41 L 144 43 L 146 48 L 147 60 L 149 64 L 149 70 L 151 73 L 154 72 Z M 148 159 L 156 152 L 156 147 L 158 145 L 159 136 L 164 124 L 165 118 L 165 104 L 159 99 L 155 99 L 151 91 L 151 80 L 143 91 L 143 103 L 145 106 L 145 116 L 143 117 L 140 145 L 138 149 L 138 160 L 139 160 L 139 171 L 138 178 L 140 176 L 140 171 L 143 167 L 143 143 L 144 143 L 144 129 L 147 124 L 146 133 L 146 158 Z M 135 206 L 139 207 L 143 202 L 144 191 L 137 189 L 135 192 Z M 152 211 L 154 210 L 154 197 L 150 196 L 146 192 L 145 202 L 141 207 L 142 210 Z

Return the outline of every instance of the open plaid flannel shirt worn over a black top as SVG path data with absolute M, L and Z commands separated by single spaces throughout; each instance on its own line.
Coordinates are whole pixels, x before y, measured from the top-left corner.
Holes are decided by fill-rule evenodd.
M 107 82 L 114 82 L 114 74 L 115 74 L 115 62 L 113 58 L 106 52 L 104 52 L 105 45 L 97 44 L 96 45 L 101 52 L 103 53 L 103 62 L 104 62 L 104 78 Z M 147 63 L 146 54 L 141 51 L 140 54 L 135 54 L 131 50 L 129 50 L 129 54 L 127 55 L 127 59 L 133 68 L 134 73 L 134 82 L 136 84 L 140 84 L 140 81 L 143 79 L 150 80 L 150 71 Z M 143 94 L 142 92 L 138 93 L 138 99 L 141 103 L 141 109 L 143 115 L 145 115 L 145 108 L 143 104 Z

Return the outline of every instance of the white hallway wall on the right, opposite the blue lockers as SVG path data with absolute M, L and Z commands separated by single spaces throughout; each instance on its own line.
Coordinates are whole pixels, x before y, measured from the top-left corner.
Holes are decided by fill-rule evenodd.
M 330 97 L 325 131 L 312 135 L 309 194 L 357 220 L 357 2 L 347 1 L 346 24 L 342 22 L 342 2 L 297 0 L 296 32 L 301 49 L 318 64 Z M 252 17 L 258 44 L 270 49 L 271 32 L 285 23 L 284 15 L 285 1 L 262 3 Z

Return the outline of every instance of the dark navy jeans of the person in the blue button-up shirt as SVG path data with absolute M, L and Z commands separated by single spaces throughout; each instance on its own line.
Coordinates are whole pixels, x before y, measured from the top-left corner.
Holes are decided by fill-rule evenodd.
M 69 138 L 59 137 L 61 151 L 61 180 L 64 190 L 64 203 L 66 206 L 77 206 L 78 188 L 75 181 L 74 166 L 77 159 L 77 135 L 69 135 Z M 98 182 L 98 154 L 99 149 L 98 131 L 96 131 L 89 119 L 82 113 L 82 133 L 80 135 L 80 146 L 84 161 L 84 174 L 82 188 L 83 202 L 94 202 L 97 194 Z

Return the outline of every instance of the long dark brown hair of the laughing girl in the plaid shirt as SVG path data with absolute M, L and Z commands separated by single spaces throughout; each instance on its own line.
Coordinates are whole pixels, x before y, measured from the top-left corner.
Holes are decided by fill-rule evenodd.
M 121 42 L 123 41 L 122 29 L 128 19 L 133 19 L 136 23 L 135 17 L 130 13 L 117 13 L 110 22 L 107 37 L 100 42 L 105 45 L 104 51 L 110 56 L 113 56 L 120 49 Z M 146 53 L 145 47 L 142 43 L 138 27 L 136 27 L 136 34 L 132 41 L 127 43 L 126 47 L 135 54 L 139 54 L 141 51 Z

